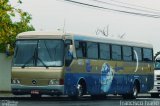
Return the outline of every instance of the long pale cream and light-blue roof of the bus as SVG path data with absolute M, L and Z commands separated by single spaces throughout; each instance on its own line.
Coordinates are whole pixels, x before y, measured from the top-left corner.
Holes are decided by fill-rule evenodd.
M 96 37 L 91 35 L 80 35 L 73 33 L 62 33 L 62 32 L 45 32 L 45 31 L 28 31 L 18 34 L 17 39 L 63 39 L 64 37 L 70 36 L 74 40 L 91 41 L 91 42 L 102 42 L 117 45 L 127 45 L 136 47 L 153 48 L 151 44 L 126 41 L 124 39 L 109 39 L 107 37 Z

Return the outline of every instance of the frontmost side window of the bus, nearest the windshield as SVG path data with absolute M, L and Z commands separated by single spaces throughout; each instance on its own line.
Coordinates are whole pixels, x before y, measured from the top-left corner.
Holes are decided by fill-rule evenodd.
M 76 54 L 78 58 L 86 57 L 86 43 L 82 41 L 75 41 Z

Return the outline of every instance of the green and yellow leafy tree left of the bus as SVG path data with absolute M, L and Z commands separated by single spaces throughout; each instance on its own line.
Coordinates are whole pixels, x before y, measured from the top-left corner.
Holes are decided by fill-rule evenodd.
M 21 0 L 17 2 L 22 4 Z M 19 21 L 14 22 L 13 19 L 17 17 L 20 17 Z M 30 24 L 31 19 L 29 13 L 12 6 L 9 0 L 0 0 L 0 52 L 5 52 L 9 44 L 9 50 L 13 53 L 17 34 L 35 30 Z

